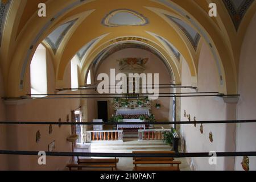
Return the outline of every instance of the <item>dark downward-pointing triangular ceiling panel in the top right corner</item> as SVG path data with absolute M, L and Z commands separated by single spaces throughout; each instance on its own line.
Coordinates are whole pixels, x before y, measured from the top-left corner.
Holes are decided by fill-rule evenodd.
M 246 14 L 246 11 L 249 9 L 250 5 L 254 0 L 222 0 L 226 9 L 229 12 L 230 17 L 238 30 L 240 23 L 242 22 L 243 16 Z

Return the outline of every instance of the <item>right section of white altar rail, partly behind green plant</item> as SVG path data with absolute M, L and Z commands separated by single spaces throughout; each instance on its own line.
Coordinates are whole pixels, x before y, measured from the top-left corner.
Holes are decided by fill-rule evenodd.
M 151 129 L 151 130 L 138 130 L 139 141 L 143 140 L 163 140 L 163 133 L 171 131 L 171 129 Z

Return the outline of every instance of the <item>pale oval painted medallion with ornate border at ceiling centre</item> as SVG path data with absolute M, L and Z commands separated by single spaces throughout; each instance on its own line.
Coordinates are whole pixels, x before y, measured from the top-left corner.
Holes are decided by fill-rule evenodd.
M 145 16 L 129 9 L 113 10 L 102 19 L 102 24 L 107 27 L 144 26 L 148 23 Z

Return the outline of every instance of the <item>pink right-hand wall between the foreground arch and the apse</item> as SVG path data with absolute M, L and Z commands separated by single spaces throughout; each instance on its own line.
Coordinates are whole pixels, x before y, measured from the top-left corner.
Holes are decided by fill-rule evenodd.
M 206 44 L 203 44 L 198 69 L 199 92 L 218 92 L 217 68 L 213 57 Z M 191 73 L 187 63 L 182 62 L 182 84 L 191 85 Z M 183 89 L 184 91 L 188 91 Z M 192 91 L 192 90 L 190 90 Z M 217 97 L 184 97 L 181 98 L 181 121 L 188 121 L 184 117 L 187 114 L 196 117 L 196 121 L 210 121 L 221 119 L 235 119 L 236 105 L 225 104 Z M 200 133 L 200 125 L 181 125 L 181 135 L 185 143 L 185 152 L 224 152 L 234 151 L 234 125 L 203 125 L 204 133 Z M 209 141 L 209 133 L 213 133 L 213 143 Z M 217 165 L 210 166 L 209 158 L 192 158 L 192 169 L 196 170 L 232 170 L 234 169 L 234 158 L 218 158 Z

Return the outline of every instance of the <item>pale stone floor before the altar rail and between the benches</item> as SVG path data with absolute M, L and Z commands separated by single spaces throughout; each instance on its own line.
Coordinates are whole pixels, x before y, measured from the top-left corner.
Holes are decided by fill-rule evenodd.
M 170 151 L 171 147 L 164 144 L 162 140 L 148 140 L 139 142 L 136 139 L 124 139 L 123 143 L 92 143 L 90 146 L 91 152 L 111 152 L 111 153 L 131 153 L 132 151 Z M 180 170 L 190 171 L 190 167 L 185 158 L 175 159 L 181 161 Z M 132 171 L 133 170 L 132 158 L 119 158 L 117 164 L 118 170 Z

